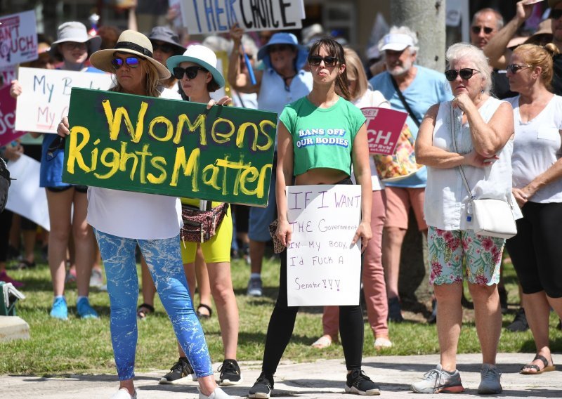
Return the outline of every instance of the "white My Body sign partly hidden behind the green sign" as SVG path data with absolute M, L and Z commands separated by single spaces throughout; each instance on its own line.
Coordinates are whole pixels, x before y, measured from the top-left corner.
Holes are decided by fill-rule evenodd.
M 110 74 L 38 68 L 20 68 L 18 80 L 22 93 L 15 108 L 15 129 L 43 133 L 56 133 L 60 119 L 68 115 L 72 87 L 107 90 L 112 86 Z

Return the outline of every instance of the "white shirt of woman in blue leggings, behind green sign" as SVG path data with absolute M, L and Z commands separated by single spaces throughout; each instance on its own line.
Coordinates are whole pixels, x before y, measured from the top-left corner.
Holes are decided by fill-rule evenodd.
M 181 99 L 170 89 L 164 89 L 161 97 Z M 96 230 L 117 237 L 171 238 L 180 233 L 181 203 L 167 195 L 89 187 L 86 220 Z

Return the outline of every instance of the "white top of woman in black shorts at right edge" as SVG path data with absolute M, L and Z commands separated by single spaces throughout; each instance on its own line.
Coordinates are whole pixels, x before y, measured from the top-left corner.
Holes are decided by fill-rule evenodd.
M 562 97 L 554 96 L 539 115 L 525 123 L 519 115 L 519 96 L 506 101 L 514 107 L 513 185 L 523 188 L 561 157 Z M 538 190 L 529 201 L 562 202 L 562 178 Z

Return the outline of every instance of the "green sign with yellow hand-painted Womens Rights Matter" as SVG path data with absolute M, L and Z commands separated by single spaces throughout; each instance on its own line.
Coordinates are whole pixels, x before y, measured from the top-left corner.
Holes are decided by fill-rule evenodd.
M 265 207 L 277 114 L 73 88 L 63 181 Z

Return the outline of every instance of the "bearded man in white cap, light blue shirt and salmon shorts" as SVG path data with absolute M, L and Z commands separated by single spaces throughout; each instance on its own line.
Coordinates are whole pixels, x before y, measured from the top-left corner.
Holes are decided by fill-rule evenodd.
M 450 91 L 445 89 L 445 76 L 414 64 L 418 50 L 417 35 L 408 27 L 391 27 L 381 40 L 380 50 L 384 51 L 386 71 L 373 77 L 370 84 L 383 93 L 394 110 L 408 112 L 406 123 L 415 138 L 419 122 L 429 107 L 452 99 Z M 426 181 L 427 171 L 423 167 L 407 178 L 385 184 L 386 223 L 382 239 L 382 263 L 388 296 L 388 320 L 393 322 L 403 321 L 398 297 L 398 275 L 410 207 L 414 210 L 419 230 L 427 232 L 423 211 Z

